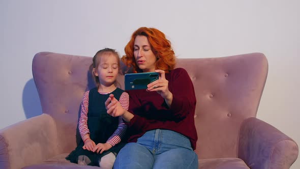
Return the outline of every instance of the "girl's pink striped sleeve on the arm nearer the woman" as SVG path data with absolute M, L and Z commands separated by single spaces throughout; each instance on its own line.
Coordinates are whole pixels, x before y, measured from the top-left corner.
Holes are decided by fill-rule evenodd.
M 123 92 L 119 102 L 121 103 L 122 107 L 125 110 L 128 110 L 129 107 L 129 95 L 126 92 Z M 107 139 L 107 143 L 109 143 L 112 146 L 115 146 L 116 144 L 121 142 L 121 139 L 126 134 L 127 125 L 124 123 L 122 117 L 118 117 L 118 127 L 114 131 L 114 133 Z

